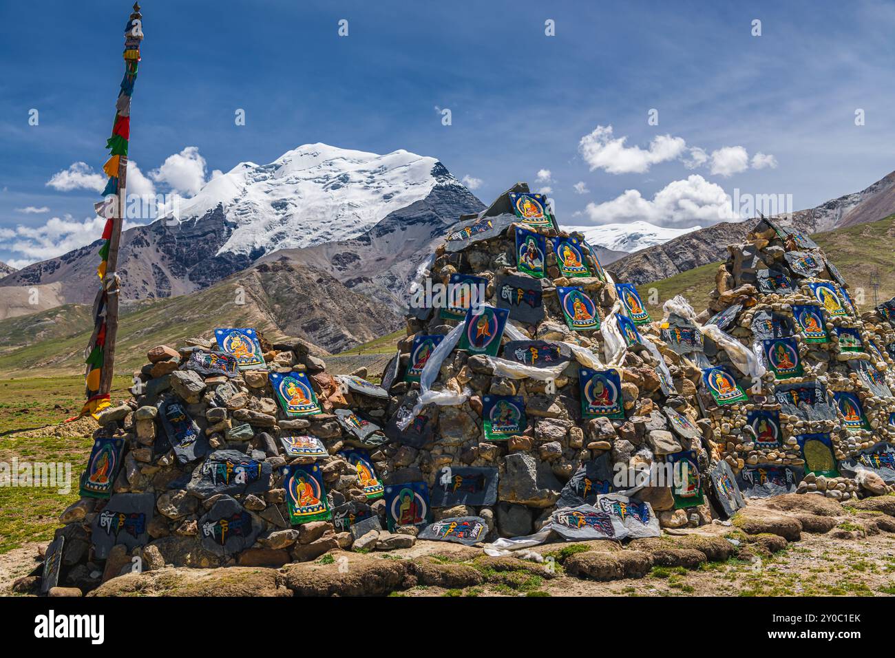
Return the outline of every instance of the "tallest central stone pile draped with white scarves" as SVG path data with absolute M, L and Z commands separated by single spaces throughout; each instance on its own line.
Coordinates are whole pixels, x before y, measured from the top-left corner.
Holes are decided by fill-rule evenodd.
M 489 526 L 493 521 L 500 537 L 537 532 L 550 524 L 558 508 L 592 503 L 598 493 L 618 491 L 619 487 L 610 481 L 622 470 L 645 471 L 653 462 L 661 463 L 668 455 L 687 451 L 694 453 L 703 468 L 707 465 L 703 431 L 696 425 L 699 369 L 661 342 L 652 321 L 639 326 L 626 321 L 630 319 L 624 300 L 619 299 L 620 288 L 601 267 L 584 235 L 562 231 L 553 221 L 546 226 L 528 223 L 515 211 L 514 200 L 519 201 L 527 192 L 527 185 L 517 184 L 482 213 L 461 218 L 445 244 L 436 250 L 429 268 L 422 272 L 419 284 L 422 291 L 432 284 L 447 287 L 467 277 L 482 278 L 485 293 L 480 301 L 509 311 L 497 357 L 455 347 L 440 362 L 430 389 L 456 399 L 441 406 L 430 403 L 421 409 L 421 383 L 416 380 L 419 374 L 416 378 L 407 376 L 418 365 L 414 363 L 415 349 L 426 338 L 446 339 L 442 337 L 465 323 L 463 312 L 458 318 L 446 318 L 445 304 L 426 307 L 421 303 L 410 309 L 407 337 L 398 344 L 383 375 L 383 387 L 391 395 L 389 409 L 395 410 L 390 423 L 393 432 L 388 432 L 395 442 L 383 449 L 391 473 L 425 482 L 431 490 L 452 469 L 492 471 L 499 483 L 496 505 L 436 509 L 436 517 L 439 513 L 483 517 Z M 546 252 L 534 259 L 540 261 L 543 256 L 541 278 L 520 267 L 519 228 L 547 238 Z M 559 267 L 556 249 L 550 246 L 550 241 L 557 238 L 571 238 L 579 245 L 587 270 L 584 276 L 569 277 Z M 601 327 L 621 316 L 629 328 L 628 336 L 639 338 L 628 344 L 616 335 L 624 342 L 611 365 L 601 330 L 570 328 L 558 295 L 560 288 L 568 286 L 580 288 L 592 300 Z M 650 340 L 657 351 L 648 350 L 644 339 Z M 578 347 L 589 355 L 582 357 L 575 351 Z M 535 358 L 532 363 L 533 350 L 541 355 L 554 350 L 555 360 L 541 363 Z M 603 365 L 589 363 L 590 357 Z M 657 357 L 662 360 L 661 367 Z M 533 368 L 559 365 L 555 378 L 545 381 L 514 374 L 507 362 Z M 618 417 L 583 418 L 579 373 L 585 366 L 618 371 L 623 407 Z M 663 371 L 667 373 L 664 377 Z M 503 440 L 490 440 L 483 427 L 490 397 L 520 397 L 524 407 L 524 425 Z M 395 430 L 396 418 L 411 410 L 426 423 L 425 430 L 413 436 Z M 669 422 L 669 414 L 686 418 L 689 429 L 681 430 L 680 423 Z M 592 489 L 582 495 L 585 479 Z M 640 488 L 633 500 L 649 503 L 666 527 L 696 526 L 718 516 L 708 503 L 676 508 L 670 483 Z

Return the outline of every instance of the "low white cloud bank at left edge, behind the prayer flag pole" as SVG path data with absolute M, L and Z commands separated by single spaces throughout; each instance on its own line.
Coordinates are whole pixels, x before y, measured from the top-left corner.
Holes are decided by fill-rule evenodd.
M 43 226 L 16 226 L 0 232 L 0 248 L 16 252 L 22 258 L 7 261 L 14 268 L 22 268 L 32 262 L 46 261 L 61 256 L 72 249 L 99 239 L 106 226 L 105 218 L 86 218 L 82 222 L 64 215 L 50 218 Z M 124 230 L 137 226 L 124 220 Z

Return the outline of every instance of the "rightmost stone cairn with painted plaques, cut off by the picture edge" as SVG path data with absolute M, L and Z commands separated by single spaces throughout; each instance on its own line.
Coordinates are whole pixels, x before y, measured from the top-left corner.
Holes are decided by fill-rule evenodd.
M 734 374 L 746 397 L 718 404 L 706 386 L 700 389 L 712 457 L 726 461 L 744 488 L 744 474 L 755 483 L 770 467 L 790 474 L 775 493 L 846 501 L 892 491 L 868 461 L 887 455 L 891 470 L 891 302 L 859 315 L 847 282 L 818 246 L 770 219 L 729 247 L 715 281 L 709 309 L 695 320 L 726 329 L 765 372 L 757 382 L 746 377 L 729 350 L 708 337 L 696 350 L 703 365 Z M 672 310 L 665 324 L 688 323 Z

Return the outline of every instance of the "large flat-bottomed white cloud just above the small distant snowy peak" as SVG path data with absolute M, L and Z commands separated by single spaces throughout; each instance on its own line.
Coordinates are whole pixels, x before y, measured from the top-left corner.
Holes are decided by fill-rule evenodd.
M 585 214 L 594 224 L 615 224 L 644 220 L 659 226 L 681 223 L 717 222 L 737 219 L 730 209 L 730 199 L 718 184 L 709 183 L 701 175 L 669 183 L 652 200 L 644 199 L 637 190 L 626 190 L 611 201 L 588 203 Z

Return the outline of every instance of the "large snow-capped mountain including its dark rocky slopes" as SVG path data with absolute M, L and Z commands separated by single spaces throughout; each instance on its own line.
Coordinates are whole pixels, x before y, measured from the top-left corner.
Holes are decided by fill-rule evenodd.
M 179 221 L 160 218 L 125 231 L 118 274 L 125 299 L 184 295 L 271 252 L 337 244 L 339 249 L 328 253 L 344 267 L 325 269 L 346 281 L 366 276 L 352 264 L 362 260 L 356 250 L 364 244 L 377 252 L 383 249 L 377 244 L 399 237 L 404 242 L 410 230 L 422 247 L 460 213 L 479 209 L 482 202 L 436 158 L 308 144 L 268 165 L 244 162 L 219 175 L 182 203 Z M 99 241 L 13 272 L 0 280 L 0 304 L 3 286 L 54 282 L 62 288 L 62 303 L 90 303 L 96 294 L 98 248 Z M 402 258 L 413 257 L 405 247 Z M 318 268 L 328 264 L 322 257 L 317 261 Z M 404 276 L 389 273 L 385 262 L 366 264 L 391 286 Z M 394 265 L 402 269 L 416 263 Z

